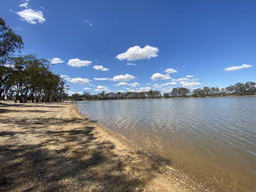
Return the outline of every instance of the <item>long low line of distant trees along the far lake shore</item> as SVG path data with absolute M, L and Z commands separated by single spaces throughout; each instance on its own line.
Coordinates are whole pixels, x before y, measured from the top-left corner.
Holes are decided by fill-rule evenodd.
M 225 89 L 219 87 L 204 87 L 203 89 L 194 89 L 190 91 L 188 88 L 177 87 L 173 88 L 172 92 L 164 93 L 164 98 L 171 97 L 217 97 L 217 96 L 236 96 L 236 95 L 253 95 L 256 94 L 256 83 L 246 82 L 236 83 L 230 85 Z M 72 100 L 112 100 L 112 99 L 145 99 L 145 98 L 162 98 L 160 91 L 147 91 L 147 92 L 109 92 L 104 91 L 97 95 L 91 95 L 90 92 L 83 94 L 75 93 L 66 99 Z

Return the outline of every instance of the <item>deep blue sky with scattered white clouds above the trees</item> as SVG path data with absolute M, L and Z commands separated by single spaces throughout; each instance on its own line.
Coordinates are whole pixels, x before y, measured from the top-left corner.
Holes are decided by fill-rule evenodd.
M 256 81 L 255 1 L 0 2 L 24 54 L 59 61 L 70 93 Z

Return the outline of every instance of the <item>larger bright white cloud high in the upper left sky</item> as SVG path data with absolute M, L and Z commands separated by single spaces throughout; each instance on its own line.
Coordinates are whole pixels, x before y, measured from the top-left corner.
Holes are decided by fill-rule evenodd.
M 16 12 L 16 13 L 22 18 L 21 20 L 25 20 L 26 22 L 31 24 L 36 24 L 37 22 L 43 23 L 44 21 L 46 21 L 44 19 L 44 14 L 41 11 L 25 9 L 23 11 Z

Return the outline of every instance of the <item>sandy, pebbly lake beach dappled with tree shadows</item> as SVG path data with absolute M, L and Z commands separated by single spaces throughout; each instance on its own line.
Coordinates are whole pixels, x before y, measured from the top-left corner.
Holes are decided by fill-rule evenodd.
M 0 105 L 1 191 L 219 191 L 64 103 Z

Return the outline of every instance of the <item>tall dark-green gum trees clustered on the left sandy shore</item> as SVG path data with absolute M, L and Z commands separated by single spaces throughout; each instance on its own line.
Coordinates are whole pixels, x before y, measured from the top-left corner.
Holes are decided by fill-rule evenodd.
M 0 99 L 60 101 L 69 87 L 51 71 L 50 61 L 36 55 L 18 55 L 24 47 L 21 36 L 0 18 Z

